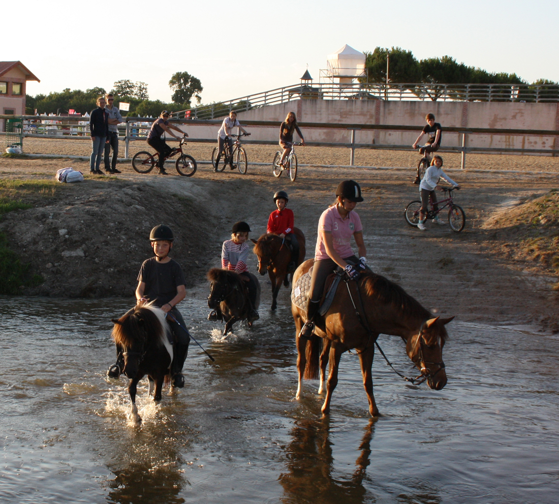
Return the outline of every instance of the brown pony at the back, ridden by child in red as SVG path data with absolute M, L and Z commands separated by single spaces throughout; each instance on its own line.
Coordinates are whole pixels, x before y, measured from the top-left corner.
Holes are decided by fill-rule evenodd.
M 299 258 L 295 264 L 297 268 L 305 260 L 305 235 L 298 227 L 293 227 L 293 234 L 299 241 Z M 294 270 L 288 271 L 287 268 L 291 261 L 291 250 L 285 240 L 278 235 L 262 235 L 258 241 L 253 239 L 251 241 L 255 244 L 253 252 L 258 256 L 258 273 L 265 275 L 268 272 L 272 282 L 272 310 L 276 310 L 276 298 L 281 284 L 289 286 L 289 273 L 293 279 Z

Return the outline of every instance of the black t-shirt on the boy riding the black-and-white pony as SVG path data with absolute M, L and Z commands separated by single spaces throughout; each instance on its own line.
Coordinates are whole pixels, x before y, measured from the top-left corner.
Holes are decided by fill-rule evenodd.
M 186 284 L 181 265 L 171 259 L 160 263 L 152 257 L 141 265 L 138 280 L 145 283 L 144 297 L 155 300 L 155 305 L 162 307 L 177 295 L 177 287 Z

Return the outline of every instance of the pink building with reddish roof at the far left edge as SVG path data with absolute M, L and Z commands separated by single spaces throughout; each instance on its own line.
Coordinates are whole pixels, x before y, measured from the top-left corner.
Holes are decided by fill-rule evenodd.
M 0 114 L 25 115 L 25 83 L 36 80 L 21 61 L 0 61 Z M 4 120 L 0 120 L 0 131 L 4 131 Z

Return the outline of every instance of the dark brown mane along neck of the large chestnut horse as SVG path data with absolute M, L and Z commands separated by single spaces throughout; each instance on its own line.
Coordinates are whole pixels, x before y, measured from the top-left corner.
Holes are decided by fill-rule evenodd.
M 377 299 L 383 304 L 400 308 L 411 316 L 424 318 L 424 320 L 433 318 L 432 313 L 421 306 L 419 301 L 411 297 L 398 284 L 382 275 L 366 271 L 362 273 L 361 278 L 367 296 Z

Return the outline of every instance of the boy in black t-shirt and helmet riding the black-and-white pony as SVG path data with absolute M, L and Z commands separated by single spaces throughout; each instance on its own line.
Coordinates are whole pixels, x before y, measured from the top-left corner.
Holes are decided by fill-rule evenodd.
M 173 240 L 173 231 L 168 226 L 160 224 L 151 230 L 149 241 L 155 256 L 146 259 L 141 265 L 136 299 L 138 303 L 153 301 L 155 306 L 161 308 L 165 313 L 169 313 L 167 322 L 176 341 L 171 364 L 173 386 L 182 388 L 184 387 L 182 367 L 188 354 L 190 334 L 188 334 L 181 312 L 177 310 L 176 306 L 186 296 L 186 282 L 181 266 L 176 260 L 169 257 L 169 252 L 173 248 Z M 117 348 L 117 361 L 108 368 L 107 376 L 119 378 L 123 368 L 122 349 Z

